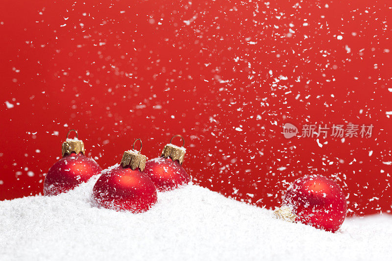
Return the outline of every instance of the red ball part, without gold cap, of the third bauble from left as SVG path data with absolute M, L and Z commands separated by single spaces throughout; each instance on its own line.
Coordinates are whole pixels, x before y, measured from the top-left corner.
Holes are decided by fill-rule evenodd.
M 191 181 L 191 177 L 177 160 L 157 157 L 146 162 L 143 171 L 155 184 L 158 191 L 172 190 Z

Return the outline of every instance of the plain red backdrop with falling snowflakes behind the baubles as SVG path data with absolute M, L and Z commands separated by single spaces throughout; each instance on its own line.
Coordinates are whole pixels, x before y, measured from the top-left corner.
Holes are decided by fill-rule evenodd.
M 0 200 L 40 193 L 74 128 L 103 168 L 180 133 L 194 182 L 226 196 L 273 207 L 314 173 L 350 214 L 390 211 L 389 0 L 101 2 L 2 1 Z M 374 129 L 320 148 L 286 122 Z

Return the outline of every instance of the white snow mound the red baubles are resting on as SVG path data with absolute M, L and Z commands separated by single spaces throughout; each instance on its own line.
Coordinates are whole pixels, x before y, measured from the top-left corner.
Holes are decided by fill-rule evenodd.
M 196 185 L 142 214 L 92 207 L 98 177 L 58 196 L 0 202 L 0 260 L 388 260 L 392 217 L 332 234 Z

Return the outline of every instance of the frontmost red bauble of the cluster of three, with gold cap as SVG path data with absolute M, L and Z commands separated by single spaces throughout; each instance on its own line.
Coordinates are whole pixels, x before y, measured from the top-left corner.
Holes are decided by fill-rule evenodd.
M 145 212 L 157 202 L 157 192 L 151 179 L 142 171 L 147 157 L 140 151 L 124 152 L 121 164 L 105 170 L 93 189 L 93 200 L 100 207 L 129 210 L 133 213 Z M 142 145 L 142 141 L 140 140 Z

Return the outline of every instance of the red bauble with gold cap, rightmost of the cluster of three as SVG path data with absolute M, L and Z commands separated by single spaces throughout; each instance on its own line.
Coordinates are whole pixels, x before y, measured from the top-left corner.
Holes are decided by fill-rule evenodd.
M 172 144 L 174 137 L 182 139 L 182 147 Z M 170 144 L 166 144 L 161 157 L 146 162 L 144 173 L 151 178 L 158 191 L 172 190 L 191 181 L 191 177 L 182 167 L 185 157 L 185 140 L 181 135 L 174 135 Z

